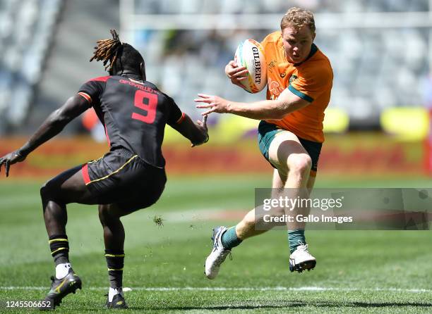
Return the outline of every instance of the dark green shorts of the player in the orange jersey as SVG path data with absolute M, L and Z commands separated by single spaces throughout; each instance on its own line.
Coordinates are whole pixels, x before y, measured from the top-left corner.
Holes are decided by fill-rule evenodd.
M 282 131 L 284 130 L 278 128 L 272 123 L 265 122 L 264 120 L 262 120 L 258 126 L 258 145 L 260 146 L 260 151 L 264 158 L 269 163 L 270 160 L 268 159 L 268 150 L 270 149 L 270 144 L 272 143 L 272 140 L 275 139 L 275 135 Z M 323 147 L 323 143 L 308 141 L 307 139 L 301 139 L 300 137 L 297 138 L 299 139 L 301 146 L 303 146 L 308 155 L 311 156 L 311 175 L 315 177 L 316 171 L 318 169 L 318 159 L 320 158 L 320 152 L 321 147 Z M 275 168 L 272 163 L 270 163 L 270 165 Z

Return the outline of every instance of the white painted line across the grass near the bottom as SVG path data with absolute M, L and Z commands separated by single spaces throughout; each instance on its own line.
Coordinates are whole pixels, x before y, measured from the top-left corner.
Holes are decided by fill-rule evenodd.
M 49 287 L 0 287 L 1 290 L 46 290 Z M 87 290 L 107 290 L 107 287 L 85 287 Z M 347 288 L 347 287 L 131 287 L 124 288 L 124 291 L 383 291 L 383 292 L 403 292 L 403 293 L 432 293 L 432 289 L 400 289 L 400 288 Z

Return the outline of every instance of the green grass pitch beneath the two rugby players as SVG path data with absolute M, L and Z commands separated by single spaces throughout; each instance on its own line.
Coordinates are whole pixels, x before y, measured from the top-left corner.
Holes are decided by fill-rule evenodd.
M 40 300 L 54 273 L 42 220 L 42 182 L 0 182 L 0 313 L 7 300 Z M 270 231 L 232 252 L 216 280 L 203 275 L 212 227 L 253 207 L 270 177 L 169 178 L 152 208 L 123 219 L 127 313 L 431 313 L 429 231 L 309 231 L 318 265 L 291 273 L 286 232 Z M 431 187 L 428 180 L 324 180 L 317 187 Z M 155 215 L 163 226 L 153 222 Z M 219 220 L 218 220 L 219 219 Z M 95 206 L 68 206 L 71 263 L 83 290 L 59 313 L 104 313 L 107 267 Z

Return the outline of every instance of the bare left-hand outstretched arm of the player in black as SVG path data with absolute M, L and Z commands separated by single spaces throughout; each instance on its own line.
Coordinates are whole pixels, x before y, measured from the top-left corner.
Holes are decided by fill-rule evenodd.
M 59 134 L 71 120 L 78 117 L 78 115 L 87 109 L 88 101 L 83 96 L 76 94 L 69 98 L 63 106 L 48 116 L 27 143 L 20 149 L 0 158 L 0 170 L 1 166 L 4 165 L 6 177 L 8 177 L 11 165 L 23 161 L 29 153 L 34 151 L 38 146 L 44 144 L 44 142 L 52 139 L 56 134 Z

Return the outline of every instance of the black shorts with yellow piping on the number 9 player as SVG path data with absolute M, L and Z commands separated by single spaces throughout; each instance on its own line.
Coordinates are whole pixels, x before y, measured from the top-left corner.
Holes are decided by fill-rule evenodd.
M 125 211 L 136 211 L 155 203 L 164 191 L 163 168 L 145 163 L 127 149 L 109 151 L 82 168 L 85 185 L 98 203 L 116 203 Z

